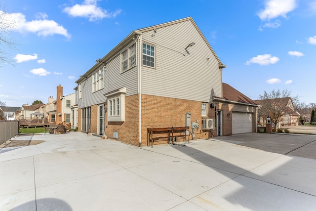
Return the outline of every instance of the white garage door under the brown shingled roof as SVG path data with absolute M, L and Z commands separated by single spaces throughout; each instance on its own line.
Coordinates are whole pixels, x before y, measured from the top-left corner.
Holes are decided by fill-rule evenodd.
M 233 112 L 233 134 L 252 132 L 252 113 Z

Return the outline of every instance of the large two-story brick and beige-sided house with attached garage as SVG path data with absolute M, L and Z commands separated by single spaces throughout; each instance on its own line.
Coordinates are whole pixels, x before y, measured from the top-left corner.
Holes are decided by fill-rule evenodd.
M 137 146 L 148 128 L 190 125 L 190 139 L 256 131 L 257 106 L 229 96 L 226 66 L 191 17 L 135 30 L 96 62 L 76 81 L 79 131 Z

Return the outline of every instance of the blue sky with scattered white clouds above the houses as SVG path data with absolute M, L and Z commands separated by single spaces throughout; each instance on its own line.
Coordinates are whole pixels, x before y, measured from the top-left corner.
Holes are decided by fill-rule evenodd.
M 48 102 L 135 29 L 191 16 L 222 63 L 223 82 L 251 99 L 287 89 L 316 102 L 316 0 L 1 0 L 16 48 L 1 64 L 6 106 Z

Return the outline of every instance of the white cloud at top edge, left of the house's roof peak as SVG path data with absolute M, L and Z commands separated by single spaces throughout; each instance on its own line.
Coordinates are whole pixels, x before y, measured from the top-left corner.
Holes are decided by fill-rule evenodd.
M 82 4 L 75 4 L 64 8 L 64 12 L 73 17 L 88 17 L 89 21 L 116 17 L 122 10 L 109 13 L 106 9 L 97 6 L 99 0 L 84 0 Z

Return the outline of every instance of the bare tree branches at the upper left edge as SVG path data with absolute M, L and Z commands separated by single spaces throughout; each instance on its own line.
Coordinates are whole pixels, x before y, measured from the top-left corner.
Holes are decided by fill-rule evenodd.
M 11 18 L 11 14 L 5 12 L 5 7 L 0 10 L 0 62 L 13 64 L 13 59 L 9 58 L 8 53 L 5 50 L 5 46 L 8 48 L 15 48 L 16 43 L 12 41 L 9 35 L 9 31 L 13 29 L 17 22 Z

